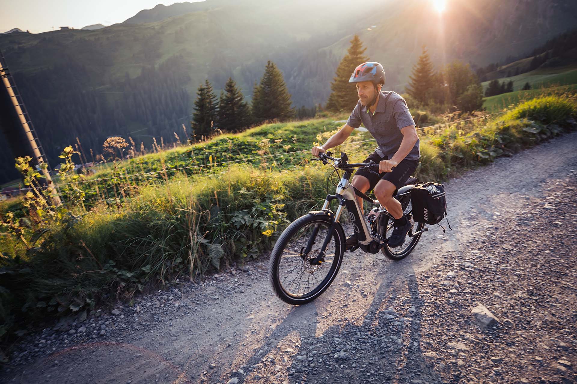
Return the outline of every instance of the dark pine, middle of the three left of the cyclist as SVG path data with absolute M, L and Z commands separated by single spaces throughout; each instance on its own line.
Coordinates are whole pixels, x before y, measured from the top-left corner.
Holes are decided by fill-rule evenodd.
M 244 96 L 229 77 L 224 92 L 220 93 L 218 127 L 224 132 L 238 131 L 250 126 L 250 110 Z

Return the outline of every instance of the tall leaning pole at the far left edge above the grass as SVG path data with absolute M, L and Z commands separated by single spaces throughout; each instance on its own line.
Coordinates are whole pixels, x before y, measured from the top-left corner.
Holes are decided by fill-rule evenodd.
M 8 66 L 6 66 L 6 60 L 4 59 L 4 55 L 2 51 L 0 51 L 0 77 L 2 78 L 2 86 L 8 92 L 8 96 L 10 101 L 12 101 L 12 105 L 14 111 L 16 112 L 16 116 L 18 116 L 18 120 L 20 121 L 20 126 L 22 130 L 24 130 L 24 134 L 26 135 L 27 141 L 32 149 L 32 153 L 38 162 L 38 165 L 46 163 L 48 167 L 46 169 L 40 168 L 44 176 L 46 177 L 46 183 L 50 191 L 52 192 L 54 203 L 57 205 L 62 204 L 62 201 L 58 197 L 58 193 L 56 187 L 52 181 L 52 177 L 50 176 L 50 165 L 48 164 L 48 159 L 44 154 L 44 150 L 42 145 L 40 145 L 40 140 L 36 135 L 36 131 L 32 126 L 32 121 L 28 116 L 28 112 L 26 111 L 26 107 L 22 98 L 20 97 L 20 93 L 18 92 L 18 88 L 16 88 L 16 83 L 14 82 L 14 78 L 8 71 Z

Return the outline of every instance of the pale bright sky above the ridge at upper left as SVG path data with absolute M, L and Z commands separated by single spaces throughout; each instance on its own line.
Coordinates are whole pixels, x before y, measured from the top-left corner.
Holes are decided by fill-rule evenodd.
M 198 0 L 179 0 L 178 2 Z M 162 0 L 0 0 L 0 32 L 12 28 L 32 33 L 47 32 L 69 26 L 80 29 L 92 24 L 111 25 L 125 21 L 140 10 L 157 4 L 171 5 L 177 1 Z

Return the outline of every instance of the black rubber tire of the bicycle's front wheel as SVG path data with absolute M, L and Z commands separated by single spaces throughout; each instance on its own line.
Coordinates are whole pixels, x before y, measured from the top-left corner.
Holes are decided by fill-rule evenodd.
M 301 216 L 293 223 L 291 223 L 280 235 L 279 239 L 276 241 L 275 246 L 272 249 L 271 257 L 269 260 L 268 265 L 268 275 L 269 281 L 271 283 L 271 287 L 273 292 L 275 292 L 276 296 L 281 299 L 283 302 L 291 305 L 303 305 L 313 301 L 314 299 L 318 298 L 327 288 L 331 285 L 333 280 L 335 279 L 337 273 L 340 269 L 340 264 L 343 260 L 344 254 L 344 245 L 345 245 L 345 236 L 343 227 L 340 223 L 336 223 L 335 231 L 333 233 L 333 239 L 335 241 L 335 255 L 334 260 L 331 263 L 331 267 L 329 267 L 329 271 L 327 276 L 321 281 L 321 283 L 312 291 L 309 292 L 307 295 L 291 295 L 283 288 L 283 284 L 280 281 L 279 275 L 279 265 L 280 260 L 283 256 L 283 251 L 288 245 L 290 239 L 297 234 L 297 232 L 308 226 L 312 223 L 320 223 L 321 225 L 330 226 L 332 224 L 332 220 L 329 218 L 328 215 L 313 215 L 313 214 L 306 214 Z M 323 237 L 324 239 L 324 237 Z M 306 263 L 303 260 L 303 263 Z M 326 263 L 322 264 L 323 266 Z

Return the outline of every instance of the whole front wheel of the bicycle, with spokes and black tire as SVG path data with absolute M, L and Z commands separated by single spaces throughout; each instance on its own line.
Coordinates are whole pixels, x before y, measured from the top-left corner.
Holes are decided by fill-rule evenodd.
M 306 214 L 295 220 L 280 235 L 268 264 L 272 290 L 285 303 L 301 305 L 319 297 L 339 272 L 344 253 L 344 231 L 335 228 L 324 252 L 318 259 L 332 220 L 328 215 Z M 310 244 L 310 251 L 306 252 Z

